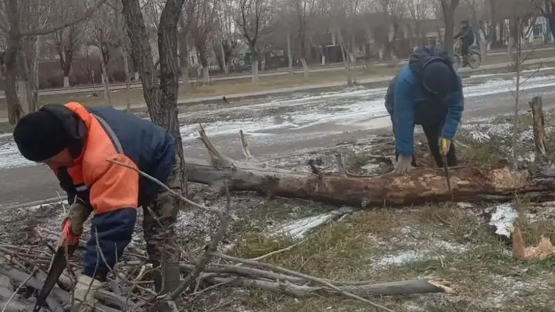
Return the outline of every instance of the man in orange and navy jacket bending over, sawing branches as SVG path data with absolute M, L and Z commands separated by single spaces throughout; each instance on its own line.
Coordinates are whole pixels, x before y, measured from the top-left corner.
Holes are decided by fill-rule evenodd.
M 160 268 L 164 259 L 163 272 L 154 272 L 156 291 L 167 293 L 178 287 L 180 253 L 173 232 L 178 199 L 136 171 L 108 162 L 113 159 L 137 168 L 182 193 L 180 159 L 167 130 L 112 107 L 92 109 L 71 102 L 46 105 L 24 116 L 13 137 L 19 152 L 47 164 L 67 192 L 71 208 L 62 230 L 66 243 L 78 242 L 83 223 L 94 211 L 85 270 L 75 288 L 77 305 L 93 299 L 121 259 L 139 206 L 144 208 L 144 239 L 153 268 Z

